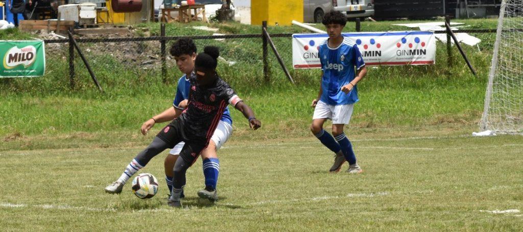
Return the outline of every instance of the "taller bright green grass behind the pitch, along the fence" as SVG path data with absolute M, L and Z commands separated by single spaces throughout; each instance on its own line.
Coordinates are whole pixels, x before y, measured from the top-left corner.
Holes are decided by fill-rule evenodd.
M 471 25 L 470 28 L 495 27 L 495 20 L 463 21 Z M 405 30 L 407 28 L 391 24 L 406 22 L 411 21 L 365 21 L 362 28 L 368 31 Z M 351 24 L 349 22 L 346 27 L 347 31 L 354 29 Z M 258 26 L 211 26 L 220 28 L 221 33 L 259 33 Z M 158 33 L 157 24 L 139 27 L 149 28 L 152 35 Z M 270 27 L 269 30 L 271 33 L 304 32 L 295 26 Z M 167 25 L 168 36 L 200 33 L 210 32 L 180 24 Z M 437 42 L 436 65 L 369 67 L 368 75 L 359 84 L 361 102 L 353 117 L 353 128 L 476 125 L 483 110 L 495 35 L 482 33 L 476 36 L 483 40 L 480 50 L 463 46 L 476 68 L 476 77 L 455 47 L 452 48 L 453 65 L 449 66 L 446 47 L 441 42 Z M 290 38 L 274 38 L 274 41 L 297 86 L 289 84 L 272 53 L 269 53 L 270 81 L 264 82 L 260 39 L 196 42 L 200 50 L 206 44 L 219 45 L 226 60 L 237 62 L 229 66 L 221 61 L 218 70 L 252 106 L 264 127 L 275 130 L 275 133 L 301 131 L 297 133 L 308 134 L 306 131 L 312 115 L 309 104 L 317 94 L 320 71 L 292 69 Z M 125 45 L 152 51 L 159 48 L 158 42 L 128 42 Z M 143 69 L 129 59 L 113 57 L 111 54 L 118 48 L 111 49 L 110 44 L 94 52 L 97 51 L 95 44 L 82 43 L 84 51 L 90 50 L 84 54 L 105 92 L 98 92 L 78 57 L 75 62 L 76 87 L 70 89 L 65 58 L 67 44 L 48 46 L 54 46 L 54 52 L 48 53 L 46 76 L 0 79 L 0 118 L 7 122 L 0 125 L 0 137 L 136 130 L 142 121 L 170 106 L 176 80 L 181 76 L 174 61 L 168 60 L 168 82 L 163 84 L 160 66 Z M 236 123 L 245 123 L 238 112 L 233 112 L 233 118 Z

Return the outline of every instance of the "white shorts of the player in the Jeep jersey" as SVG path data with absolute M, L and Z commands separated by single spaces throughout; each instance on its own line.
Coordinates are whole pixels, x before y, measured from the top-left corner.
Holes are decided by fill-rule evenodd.
M 318 101 L 312 119 L 331 119 L 333 124 L 349 124 L 353 115 L 354 103 L 348 105 L 327 105 Z

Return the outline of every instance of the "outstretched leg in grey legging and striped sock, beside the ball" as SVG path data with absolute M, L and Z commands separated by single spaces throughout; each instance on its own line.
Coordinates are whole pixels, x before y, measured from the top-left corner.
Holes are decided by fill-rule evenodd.
M 118 180 L 109 184 L 105 191 L 107 193 L 120 193 L 122 191 L 123 185 L 131 178 L 134 173 L 138 172 L 140 169 L 145 167 L 147 163 L 156 155 L 163 152 L 165 149 L 172 147 L 171 144 L 166 143 L 159 137 L 154 137 L 154 140 L 142 150 L 133 160 L 127 165 L 126 169 L 123 170 L 122 175 Z

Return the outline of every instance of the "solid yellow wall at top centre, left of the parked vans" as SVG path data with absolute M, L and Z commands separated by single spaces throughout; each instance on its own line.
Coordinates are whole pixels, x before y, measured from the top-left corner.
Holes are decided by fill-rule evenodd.
M 303 0 L 251 0 L 251 24 L 291 25 L 303 22 Z

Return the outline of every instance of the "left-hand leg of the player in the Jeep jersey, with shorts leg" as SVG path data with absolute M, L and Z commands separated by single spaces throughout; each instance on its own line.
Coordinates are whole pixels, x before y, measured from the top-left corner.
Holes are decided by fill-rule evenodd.
M 319 101 L 314 108 L 312 117 L 311 132 L 316 136 L 320 142 L 329 148 L 336 155 L 334 157 L 334 164 L 329 169 L 330 172 L 337 172 L 345 163 L 345 158 L 339 144 L 334 140 L 334 137 L 323 130 L 323 124 L 328 118 L 333 117 L 333 107 L 327 105 L 323 101 Z

